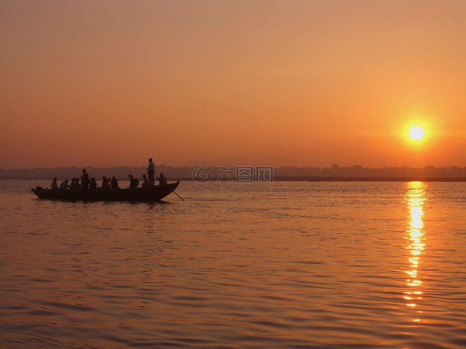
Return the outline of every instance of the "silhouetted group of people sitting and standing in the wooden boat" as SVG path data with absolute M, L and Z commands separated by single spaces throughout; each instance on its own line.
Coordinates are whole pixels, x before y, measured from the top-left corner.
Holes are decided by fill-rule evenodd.
M 143 174 L 143 183 L 141 187 L 150 187 L 155 185 L 155 165 L 152 162 L 152 158 L 149 159 L 149 167 L 147 168 L 147 173 L 149 175 Z M 128 174 L 130 178 L 130 187 L 129 188 L 137 188 L 139 186 L 139 180 L 133 177 L 133 174 Z M 160 174 L 160 177 L 157 178 L 160 185 L 166 185 L 166 178 L 163 173 Z M 87 174 L 86 169 L 83 169 L 83 175 L 81 177 L 74 177 L 71 179 L 71 184 L 69 183 L 68 179 L 65 179 L 60 186 L 58 186 L 57 178 L 53 178 L 53 182 L 50 185 L 51 189 L 61 189 L 61 190 L 88 190 L 88 189 L 97 189 L 98 185 L 95 178 L 89 178 L 89 174 Z M 118 180 L 115 176 L 106 177 L 102 176 L 102 185 L 101 189 L 120 189 L 118 187 Z

